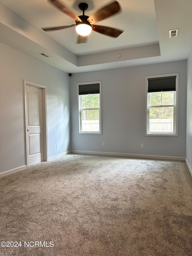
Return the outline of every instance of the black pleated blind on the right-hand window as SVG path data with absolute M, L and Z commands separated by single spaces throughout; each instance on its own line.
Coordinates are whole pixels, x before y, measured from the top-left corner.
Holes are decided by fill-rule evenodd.
M 176 76 L 148 78 L 148 92 L 176 91 Z

